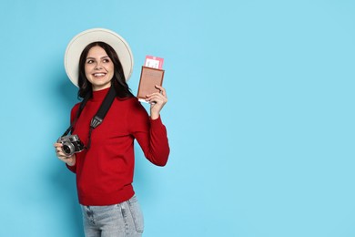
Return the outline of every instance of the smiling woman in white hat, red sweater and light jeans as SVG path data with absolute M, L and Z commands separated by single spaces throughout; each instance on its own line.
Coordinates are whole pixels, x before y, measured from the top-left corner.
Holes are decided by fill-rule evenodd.
M 67 156 L 62 143 L 55 148 L 58 159 L 76 173 L 86 237 L 141 236 L 143 216 L 132 187 L 134 139 L 147 160 L 166 165 L 167 129 L 159 115 L 167 103 L 166 90 L 156 86 L 159 92 L 147 95 L 149 117 L 127 86 L 133 67 L 131 51 L 123 38 L 106 29 L 76 36 L 66 49 L 65 64 L 68 77 L 79 87 L 78 97 L 89 97 L 79 116 L 80 104 L 71 111 L 72 134 L 86 149 Z M 90 121 L 111 87 L 117 98 L 102 123 L 89 132 Z

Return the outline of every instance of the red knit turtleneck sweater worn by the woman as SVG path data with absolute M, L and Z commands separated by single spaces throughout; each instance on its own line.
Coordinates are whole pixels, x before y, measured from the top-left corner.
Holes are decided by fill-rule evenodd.
M 73 134 L 87 144 L 91 118 L 108 92 L 95 91 L 76 121 Z M 76 116 L 78 104 L 71 111 Z M 134 195 L 132 187 L 135 165 L 134 139 L 152 163 L 167 163 L 169 146 L 167 129 L 160 118 L 150 119 L 137 98 L 115 99 L 102 124 L 93 130 L 91 147 L 76 153 L 76 173 L 79 202 L 103 206 L 127 201 Z

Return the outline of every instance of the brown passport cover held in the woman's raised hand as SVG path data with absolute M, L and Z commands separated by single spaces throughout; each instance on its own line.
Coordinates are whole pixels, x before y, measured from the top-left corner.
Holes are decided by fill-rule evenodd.
M 159 92 L 155 86 L 162 86 L 163 78 L 164 70 L 143 66 L 140 73 L 137 98 L 145 99 L 147 95 Z

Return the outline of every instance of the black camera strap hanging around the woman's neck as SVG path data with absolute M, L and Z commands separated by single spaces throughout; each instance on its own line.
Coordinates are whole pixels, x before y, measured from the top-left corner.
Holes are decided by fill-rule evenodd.
M 91 98 L 91 93 L 86 95 L 86 98 L 83 99 L 83 101 L 80 103 L 79 108 L 77 109 L 76 112 L 76 118 L 73 120 L 73 122 L 70 124 L 69 128 L 66 129 L 66 132 L 63 134 L 62 137 L 66 136 L 69 132 L 71 133 L 73 131 L 74 125 L 76 124 L 77 118 L 79 118 L 81 112 L 83 111 L 84 107 L 86 106 L 86 102 Z M 116 90 L 115 87 L 112 85 L 111 88 L 109 88 L 106 97 L 104 98 L 104 101 L 102 101 L 102 104 L 100 105 L 100 108 L 98 108 L 96 115 L 94 118 L 91 119 L 90 122 L 90 129 L 89 129 L 89 134 L 88 134 L 88 142 L 86 149 L 89 149 L 91 146 L 91 133 L 94 129 L 99 126 L 104 118 L 106 117 L 106 114 L 108 112 L 108 109 L 111 107 L 112 103 L 114 102 L 116 98 Z

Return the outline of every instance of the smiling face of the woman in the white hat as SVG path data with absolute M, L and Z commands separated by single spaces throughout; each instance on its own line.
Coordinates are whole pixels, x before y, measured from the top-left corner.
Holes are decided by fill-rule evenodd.
M 93 46 L 87 53 L 85 74 L 93 91 L 111 87 L 115 66 L 104 48 Z

